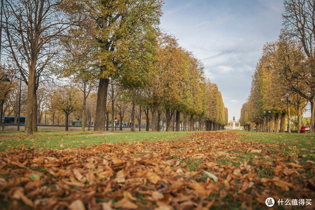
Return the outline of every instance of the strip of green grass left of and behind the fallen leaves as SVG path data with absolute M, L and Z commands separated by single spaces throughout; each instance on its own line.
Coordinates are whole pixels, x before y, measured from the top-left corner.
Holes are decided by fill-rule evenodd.
M 46 149 L 76 148 L 103 143 L 134 142 L 134 141 L 176 141 L 193 132 L 94 132 L 94 131 L 39 131 L 32 136 L 22 132 L 0 132 L 0 151 L 22 146 Z M 62 144 L 62 147 L 60 145 Z

